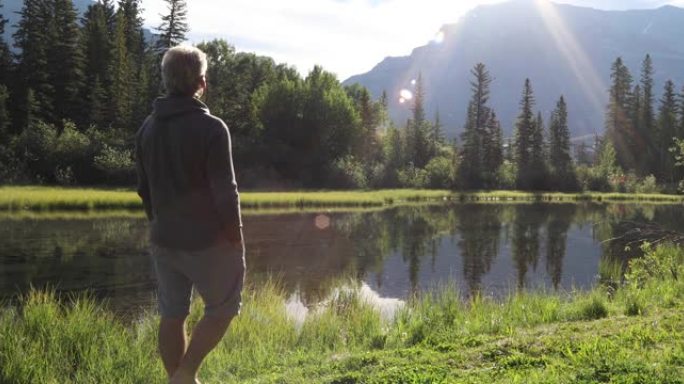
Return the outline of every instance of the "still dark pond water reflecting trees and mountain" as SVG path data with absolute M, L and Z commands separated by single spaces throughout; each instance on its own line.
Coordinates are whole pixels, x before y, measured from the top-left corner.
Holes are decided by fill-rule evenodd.
M 640 223 L 684 231 L 684 206 L 456 204 L 373 212 L 247 214 L 248 279 L 275 277 L 304 305 L 354 279 L 382 299 L 449 285 L 464 296 L 586 289 L 625 261 Z M 0 298 L 33 287 L 89 291 L 116 310 L 153 305 L 142 217 L 0 217 Z

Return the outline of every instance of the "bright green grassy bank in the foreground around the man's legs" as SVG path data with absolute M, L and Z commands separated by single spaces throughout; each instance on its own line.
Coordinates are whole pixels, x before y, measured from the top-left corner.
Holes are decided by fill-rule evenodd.
M 273 284 L 201 373 L 206 383 L 682 383 L 684 252 L 659 248 L 624 286 L 463 300 L 444 289 L 392 321 L 341 291 L 303 324 Z M 614 285 L 612 285 L 614 286 Z M 346 293 L 345 293 L 346 292 Z M 192 314 L 200 313 L 197 305 Z M 163 383 L 157 319 L 123 324 L 87 299 L 33 293 L 0 315 L 0 382 Z

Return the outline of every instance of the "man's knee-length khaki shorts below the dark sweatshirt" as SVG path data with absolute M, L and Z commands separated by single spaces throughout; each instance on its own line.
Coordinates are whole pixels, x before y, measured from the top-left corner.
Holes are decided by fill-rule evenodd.
M 244 248 L 226 243 L 198 251 L 182 251 L 152 244 L 151 254 L 159 283 L 162 317 L 187 316 L 193 286 L 204 301 L 205 315 L 233 317 L 240 312 Z

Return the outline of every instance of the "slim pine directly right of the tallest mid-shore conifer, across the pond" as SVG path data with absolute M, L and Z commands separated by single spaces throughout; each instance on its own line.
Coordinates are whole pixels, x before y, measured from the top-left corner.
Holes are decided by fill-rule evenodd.
M 516 185 L 520 189 L 533 187 L 534 164 L 532 163 L 532 147 L 535 136 L 534 94 L 530 79 L 525 79 L 520 114 L 515 123 L 514 159 L 518 169 Z

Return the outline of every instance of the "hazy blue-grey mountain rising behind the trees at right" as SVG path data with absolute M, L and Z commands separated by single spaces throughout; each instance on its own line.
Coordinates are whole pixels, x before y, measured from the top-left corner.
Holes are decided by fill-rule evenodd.
M 344 83 L 360 83 L 374 96 L 386 90 L 390 114 L 403 123 L 409 103 L 402 89 L 422 74 L 428 116 L 439 110 L 450 135 L 462 132 L 470 96 L 470 70 L 485 63 L 494 77 L 491 105 L 511 134 L 525 78 L 537 108 L 548 118 L 565 95 L 573 136 L 603 131 L 610 66 L 621 56 L 638 80 L 641 62 L 654 61 L 656 99 L 665 80 L 684 83 L 684 9 L 602 11 L 546 0 L 512 0 L 480 6 L 442 28 L 441 43 L 415 48 L 410 56 L 388 57 L 371 71 Z

